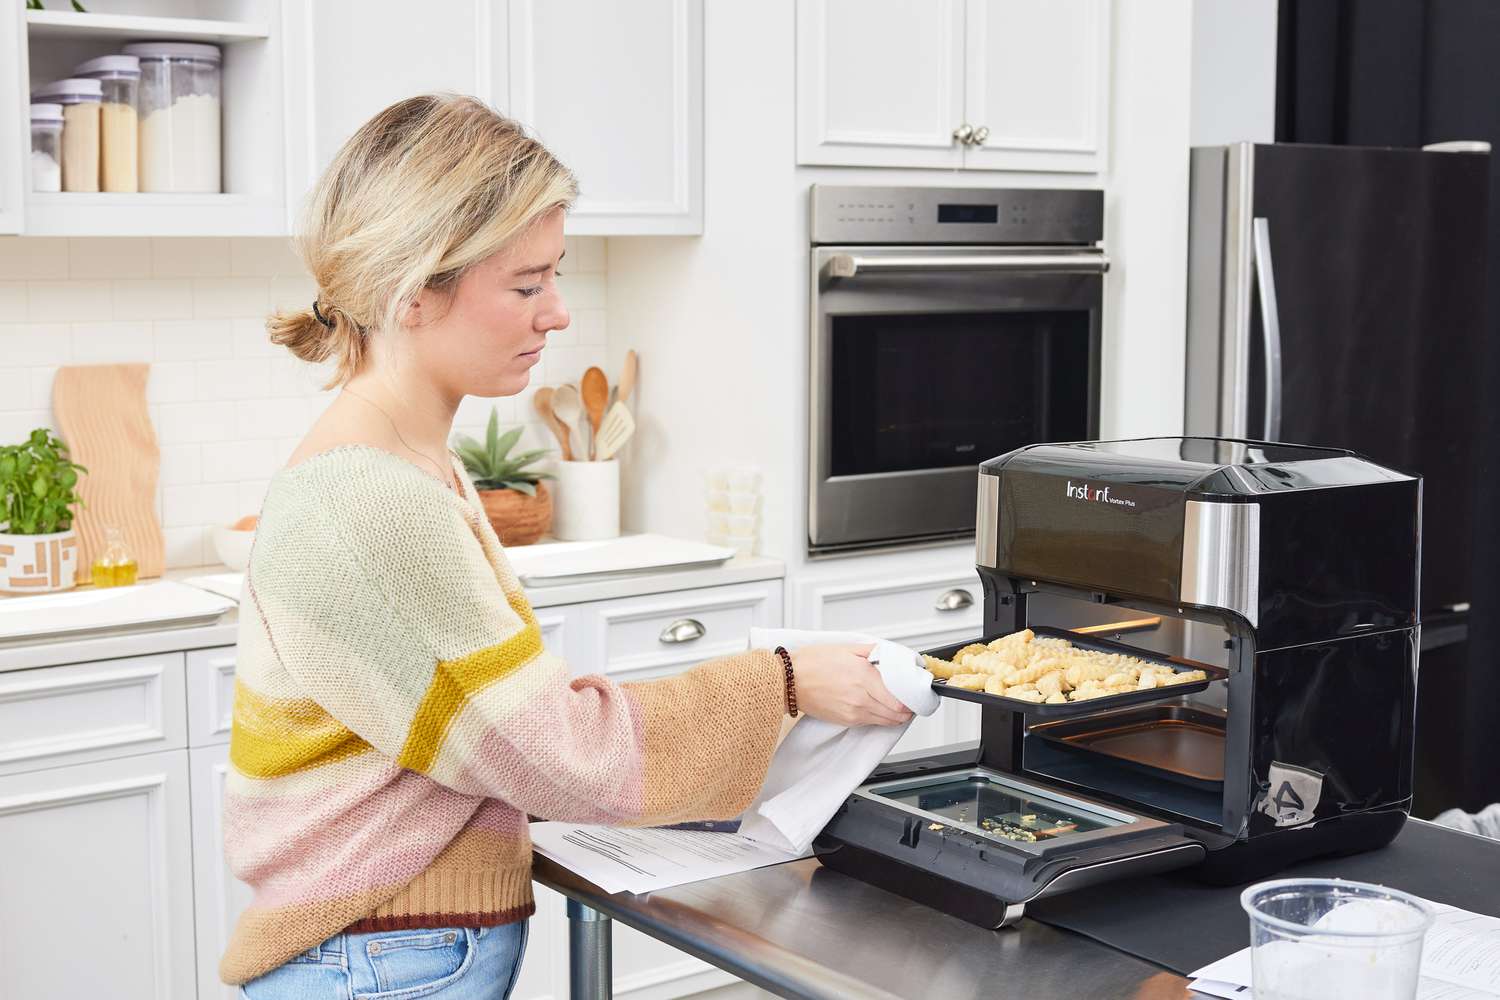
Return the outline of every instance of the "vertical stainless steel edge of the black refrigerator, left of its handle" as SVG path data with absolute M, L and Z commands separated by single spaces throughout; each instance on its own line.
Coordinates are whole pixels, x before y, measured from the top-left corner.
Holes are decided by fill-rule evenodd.
M 1256 145 L 1228 147 L 1224 178 L 1224 307 L 1220 355 L 1220 426 L 1224 438 L 1246 438 L 1250 411 L 1251 210 L 1256 190 Z

